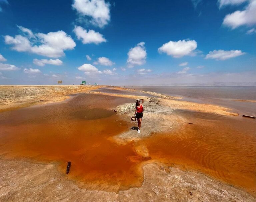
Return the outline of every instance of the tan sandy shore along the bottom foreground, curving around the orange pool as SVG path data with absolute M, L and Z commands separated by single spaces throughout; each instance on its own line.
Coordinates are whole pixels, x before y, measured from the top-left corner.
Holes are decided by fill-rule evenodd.
M 140 188 L 106 192 L 86 190 L 57 171 L 55 164 L 0 160 L 0 201 L 247 201 L 248 193 L 203 174 L 165 165 L 143 166 Z

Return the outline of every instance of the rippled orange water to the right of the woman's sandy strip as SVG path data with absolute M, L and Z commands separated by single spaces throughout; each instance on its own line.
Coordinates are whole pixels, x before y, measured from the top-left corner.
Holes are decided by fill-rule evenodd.
M 175 113 L 186 122 L 171 132 L 143 140 L 152 159 L 199 170 L 256 191 L 255 121 L 198 112 Z

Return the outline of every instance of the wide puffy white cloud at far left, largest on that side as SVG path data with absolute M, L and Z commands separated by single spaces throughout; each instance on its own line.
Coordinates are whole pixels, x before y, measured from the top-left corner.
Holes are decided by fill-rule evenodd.
M 16 35 L 15 37 L 6 35 L 4 39 L 6 44 L 13 45 L 12 49 L 18 52 L 31 52 L 56 58 L 64 56 L 65 50 L 72 50 L 76 46 L 71 36 L 64 31 L 49 32 L 48 34 L 37 33 L 34 36 L 36 40 L 31 41 L 29 36 L 22 35 Z

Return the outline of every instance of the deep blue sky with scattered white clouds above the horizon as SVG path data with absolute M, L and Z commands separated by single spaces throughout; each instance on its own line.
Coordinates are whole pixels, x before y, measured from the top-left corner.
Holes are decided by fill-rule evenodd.
M 256 0 L 0 0 L 0 85 L 256 82 Z

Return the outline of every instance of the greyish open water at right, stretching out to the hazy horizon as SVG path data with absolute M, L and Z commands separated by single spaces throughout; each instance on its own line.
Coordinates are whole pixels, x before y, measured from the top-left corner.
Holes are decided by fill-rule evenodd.
M 184 101 L 220 105 L 239 114 L 256 116 L 256 86 L 125 86 L 126 88 L 153 91 L 183 97 Z

